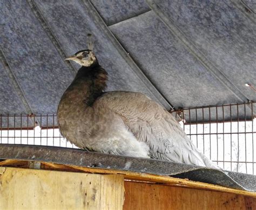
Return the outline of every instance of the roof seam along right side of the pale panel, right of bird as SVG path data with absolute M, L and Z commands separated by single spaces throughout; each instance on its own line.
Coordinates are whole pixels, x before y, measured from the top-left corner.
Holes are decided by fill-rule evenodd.
M 230 90 L 238 99 L 241 101 L 248 101 L 248 98 L 242 93 L 237 86 L 235 86 L 227 76 L 222 73 L 214 64 L 208 60 L 200 50 L 194 46 L 194 44 L 184 35 L 178 26 L 170 20 L 169 17 L 166 17 L 161 11 L 160 7 L 153 0 L 146 0 L 150 8 L 156 13 L 158 18 L 167 26 L 167 28 L 176 36 L 180 42 L 187 48 L 189 52 L 192 53 L 194 57 L 208 70 L 213 76 L 215 76 L 228 90 Z

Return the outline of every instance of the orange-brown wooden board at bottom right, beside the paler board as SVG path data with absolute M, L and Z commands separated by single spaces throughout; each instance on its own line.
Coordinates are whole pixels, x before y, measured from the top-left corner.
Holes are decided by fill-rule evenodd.
M 124 210 L 255 209 L 256 198 L 243 195 L 125 181 Z M 247 199 L 247 200 L 246 200 Z

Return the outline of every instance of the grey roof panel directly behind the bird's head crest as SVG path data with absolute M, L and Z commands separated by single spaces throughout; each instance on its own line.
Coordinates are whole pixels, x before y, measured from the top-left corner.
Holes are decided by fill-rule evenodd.
M 132 72 L 131 67 L 119 55 L 102 29 L 85 12 L 86 8 L 83 4 L 78 1 L 70 1 L 69 4 L 63 1 L 36 1 L 36 5 L 67 55 L 87 48 L 87 33 L 96 36 L 93 50 L 100 65 L 109 72 L 107 91 L 138 91 L 154 97 Z

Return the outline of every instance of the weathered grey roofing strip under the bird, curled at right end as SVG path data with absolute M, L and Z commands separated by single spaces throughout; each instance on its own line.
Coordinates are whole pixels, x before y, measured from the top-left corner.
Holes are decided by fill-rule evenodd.
M 171 175 L 172 177 L 187 178 L 227 188 L 256 191 L 256 176 L 251 174 L 214 170 L 148 158 L 86 152 L 71 148 L 0 144 L 0 159 L 55 162 L 56 164 L 99 168 L 100 170 L 124 171 L 124 173 L 154 174 L 158 177 Z

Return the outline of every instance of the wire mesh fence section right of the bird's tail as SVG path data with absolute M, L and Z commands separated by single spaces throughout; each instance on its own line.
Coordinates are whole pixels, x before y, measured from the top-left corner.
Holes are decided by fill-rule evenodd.
M 228 171 L 256 174 L 254 104 L 197 107 L 176 114 L 187 136 L 207 158 Z M 234 116 L 236 120 L 232 120 Z

